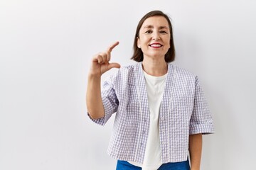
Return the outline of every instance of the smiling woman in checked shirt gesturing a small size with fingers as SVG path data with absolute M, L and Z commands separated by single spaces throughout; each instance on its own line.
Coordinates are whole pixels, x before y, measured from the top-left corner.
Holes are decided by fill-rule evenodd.
M 134 38 L 137 64 L 110 63 L 115 42 L 92 58 L 87 84 L 90 118 L 105 125 L 116 113 L 108 154 L 120 169 L 200 169 L 202 134 L 213 133 L 206 98 L 191 72 L 176 67 L 169 17 L 151 11 Z M 101 75 L 120 68 L 100 89 Z

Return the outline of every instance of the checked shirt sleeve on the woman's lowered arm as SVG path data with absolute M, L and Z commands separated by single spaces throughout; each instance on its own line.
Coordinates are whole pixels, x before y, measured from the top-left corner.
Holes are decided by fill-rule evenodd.
M 196 89 L 193 105 L 193 113 L 190 120 L 189 134 L 202 133 L 203 135 L 211 134 L 214 132 L 213 118 L 203 93 L 203 89 L 196 77 Z

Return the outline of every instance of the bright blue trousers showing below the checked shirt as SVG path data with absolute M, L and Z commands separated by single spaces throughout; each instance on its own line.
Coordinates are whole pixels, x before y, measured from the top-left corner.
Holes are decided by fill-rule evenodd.
M 134 166 L 127 161 L 117 161 L 116 170 L 142 170 L 139 166 Z M 158 170 L 190 170 L 188 159 L 184 162 L 171 162 L 162 164 Z

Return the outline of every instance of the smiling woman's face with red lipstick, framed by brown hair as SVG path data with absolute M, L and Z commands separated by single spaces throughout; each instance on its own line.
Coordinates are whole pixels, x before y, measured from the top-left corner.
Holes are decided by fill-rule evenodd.
M 164 59 L 170 48 L 170 29 L 166 18 L 152 16 L 146 18 L 139 30 L 137 46 L 142 49 L 145 57 Z

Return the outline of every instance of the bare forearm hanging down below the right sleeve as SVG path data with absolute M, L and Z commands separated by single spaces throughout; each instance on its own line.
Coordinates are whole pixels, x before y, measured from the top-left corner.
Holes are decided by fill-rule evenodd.
M 189 135 L 189 154 L 191 170 L 200 170 L 202 152 L 202 134 Z

